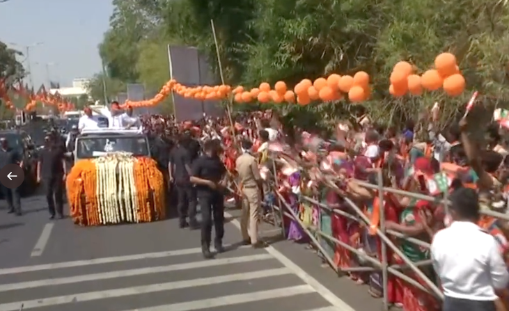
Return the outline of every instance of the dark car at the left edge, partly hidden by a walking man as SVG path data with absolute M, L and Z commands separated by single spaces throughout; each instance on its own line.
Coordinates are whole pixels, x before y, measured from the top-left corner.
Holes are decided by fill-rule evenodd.
M 6 138 L 9 147 L 17 150 L 23 157 L 24 180 L 21 185 L 22 196 L 33 194 L 37 187 L 37 152 L 32 138 L 26 131 L 13 129 L 0 131 L 0 138 Z

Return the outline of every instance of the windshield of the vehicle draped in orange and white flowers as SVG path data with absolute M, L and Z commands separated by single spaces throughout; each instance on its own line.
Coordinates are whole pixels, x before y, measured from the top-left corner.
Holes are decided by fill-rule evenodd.
M 80 137 L 77 159 L 101 157 L 109 152 L 130 152 L 135 157 L 148 156 L 147 138 L 144 136 Z

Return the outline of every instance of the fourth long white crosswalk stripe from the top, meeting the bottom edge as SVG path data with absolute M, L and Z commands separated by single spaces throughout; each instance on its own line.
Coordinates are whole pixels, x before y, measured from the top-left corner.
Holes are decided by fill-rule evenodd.
M 217 298 L 187 301 L 185 303 L 172 303 L 169 305 L 157 305 L 156 307 L 141 308 L 130 311 L 194 311 L 208 308 L 224 307 L 227 305 L 239 305 L 241 303 L 252 303 L 267 299 L 297 296 L 300 294 L 313 293 L 315 290 L 309 285 L 299 285 L 279 289 L 270 289 L 263 292 L 252 292 L 248 294 L 236 294 Z M 310 310 L 313 311 L 313 310 Z

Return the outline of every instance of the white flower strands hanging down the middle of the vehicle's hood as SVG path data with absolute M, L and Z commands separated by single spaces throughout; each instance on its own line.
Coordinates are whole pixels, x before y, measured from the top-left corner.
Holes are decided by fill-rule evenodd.
M 134 163 L 126 152 L 115 152 L 93 160 L 97 170 L 97 208 L 102 225 L 138 223 Z

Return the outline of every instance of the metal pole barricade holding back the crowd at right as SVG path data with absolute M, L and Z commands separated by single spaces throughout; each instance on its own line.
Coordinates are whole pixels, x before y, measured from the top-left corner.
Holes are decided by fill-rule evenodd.
M 276 166 L 275 166 L 275 164 L 273 164 L 273 165 L 274 165 L 273 170 L 274 170 L 274 172 L 276 172 Z M 361 180 L 355 180 L 355 182 L 357 182 L 357 184 L 359 184 L 360 186 L 365 187 L 366 189 L 373 189 L 373 190 L 377 191 L 377 195 L 379 196 L 379 202 L 384 202 L 384 194 L 385 193 L 394 193 L 399 196 L 416 198 L 418 200 L 426 200 L 428 202 L 433 202 L 435 204 L 440 204 L 440 203 L 443 203 L 444 205 L 449 204 L 447 198 L 436 198 L 436 197 L 432 197 L 432 196 L 426 196 L 421 193 L 412 193 L 412 192 L 408 192 L 408 191 L 402 191 L 400 189 L 385 187 L 385 186 L 383 186 L 381 171 L 378 172 L 377 184 L 370 184 L 368 182 L 363 182 Z M 332 185 L 332 184 L 329 184 L 328 186 L 334 187 L 334 185 Z M 430 265 L 431 260 L 422 260 L 419 262 L 412 262 L 411 260 L 409 260 L 409 258 L 404 253 L 402 253 L 400 248 L 398 248 L 398 246 L 396 246 L 393 243 L 393 241 L 391 241 L 391 239 L 389 239 L 388 234 L 392 237 L 397 237 L 398 239 L 404 239 L 405 241 L 408 241 L 408 242 L 415 244 L 416 246 L 420 246 L 422 248 L 429 249 L 430 244 L 425 241 L 416 239 L 414 237 L 407 237 L 407 235 L 402 234 L 401 232 L 397 232 L 394 230 L 386 230 L 385 219 L 384 219 L 384 204 L 379 205 L 380 220 L 379 220 L 379 227 L 376 229 L 376 235 L 377 235 L 377 237 L 379 237 L 379 239 L 381 241 L 382 258 L 380 260 L 377 260 L 376 258 L 370 257 L 369 255 L 362 252 L 361 250 L 357 250 L 356 248 L 350 246 L 349 244 L 345 243 L 344 241 L 340 241 L 340 240 L 336 239 L 335 237 L 332 237 L 331 235 L 322 232 L 320 230 L 320 226 L 318 226 L 318 228 L 317 228 L 312 225 L 309 226 L 309 225 L 304 224 L 304 222 L 301 221 L 301 219 L 299 218 L 297 213 L 292 209 L 292 207 L 288 204 L 288 202 L 286 202 L 285 198 L 281 195 L 281 193 L 276 191 L 276 189 L 279 189 L 279 183 L 278 183 L 277 178 L 274 178 L 274 180 L 272 180 L 271 189 L 272 189 L 272 191 L 274 191 L 274 193 L 277 196 L 278 204 L 270 205 L 270 207 L 272 208 L 273 215 L 275 215 L 274 211 L 279 213 L 279 217 L 281 218 L 281 234 L 283 234 L 283 237 L 285 237 L 285 223 L 283 221 L 283 216 L 287 216 L 292 221 L 297 222 L 297 224 L 300 226 L 300 228 L 302 228 L 302 230 L 306 233 L 306 235 L 310 239 L 313 246 L 318 250 L 318 252 L 322 256 L 322 258 L 329 263 L 331 268 L 334 269 L 334 271 L 336 271 L 336 273 L 340 273 L 340 272 L 370 272 L 370 271 L 381 271 L 382 272 L 382 280 L 383 280 L 382 291 L 383 291 L 383 295 L 384 295 L 383 296 L 384 310 L 389 310 L 389 301 L 388 301 L 388 296 L 387 296 L 389 273 L 392 276 L 396 276 L 397 278 L 404 280 L 409 285 L 413 285 L 414 287 L 421 289 L 422 291 L 435 296 L 439 300 L 444 299 L 444 294 L 441 292 L 441 289 L 439 289 L 439 287 L 434 282 L 432 282 L 432 280 L 430 280 L 430 278 L 428 278 L 428 276 L 426 276 L 425 273 L 423 273 L 423 271 L 421 271 L 421 269 L 419 269 L 419 267 Z M 339 216 L 349 218 L 353 221 L 358 221 L 358 222 L 364 223 L 367 226 L 370 225 L 370 220 L 366 216 L 366 214 L 364 214 L 362 209 L 360 207 L 358 207 L 349 198 L 343 197 L 343 200 L 347 203 L 347 205 L 357 215 L 347 213 L 340 209 L 332 209 L 331 207 L 328 207 L 324 203 L 318 202 L 317 200 L 314 200 L 313 198 L 308 198 L 307 196 L 300 196 L 300 200 L 310 202 L 312 205 L 319 207 L 320 213 L 324 210 L 324 211 L 327 211 L 329 214 L 330 213 L 338 214 Z M 492 216 L 495 218 L 500 218 L 500 219 L 509 221 L 509 216 L 506 214 L 501 214 L 501 213 L 493 212 L 493 211 L 482 211 L 481 213 L 486 216 Z M 274 219 L 274 224 L 277 224 L 277 221 L 275 219 Z M 350 251 L 351 253 L 354 253 L 355 255 L 357 255 L 358 257 L 361 257 L 366 262 L 369 262 L 372 266 L 354 266 L 354 267 L 349 267 L 349 268 L 339 268 L 334 263 L 334 259 L 331 258 L 327 254 L 326 250 L 324 250 L 324 248 L 320 244 L 320 241 L 318 241 L 318 239 L 315 237 L 315 235 L 318 235 L 323 239 L 327 239 L 328 241 L 331 241 L 331 243 L 334 243 L 335 245 L 345 248 L 346 250 Z M 387 258 L 387 248 L 390 248 L 393 253 L 398 255 L 401 258 L 401 260 L 404 262 L 404 264 L 389 265 L 389 260 Z M 405 269 L 412 270 L 416 274 L 416 276 L 418 276 L 418 278 L 421 279 L 425 283 L 425 286 L 423 286 L 421 284 L 421 282 L 418 282 L 418 281 L 410 278 L 409 276 L 405 275 L 405 273 L 401 272 L 402 270 L 405 270 Z

